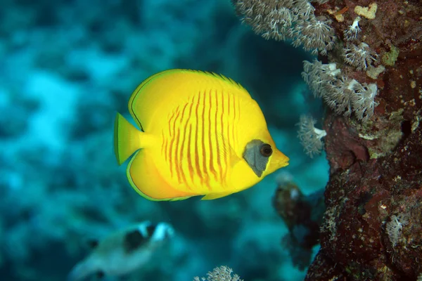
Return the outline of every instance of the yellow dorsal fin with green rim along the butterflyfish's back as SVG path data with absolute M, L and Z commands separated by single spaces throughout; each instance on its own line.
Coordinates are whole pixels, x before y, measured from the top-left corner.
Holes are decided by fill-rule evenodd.
M 160 133 L 167 117 L 177 106 L 186 105 L 193 96 L 223 91 L 239 99 L 250 99 L 241 84 L 222 74 L 200 70 L 165 70 L 145 79 L 129 99 L 129 112 L 143 131 Z

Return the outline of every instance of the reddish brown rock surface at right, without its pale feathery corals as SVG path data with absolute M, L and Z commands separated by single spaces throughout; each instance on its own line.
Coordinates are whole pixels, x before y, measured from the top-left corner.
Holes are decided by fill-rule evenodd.
M 328 1 L 316 5 L 316 14 L 347 6 L 343 21 L 331 16 L 341 39 L 357 17 L 354 6 L 373 2 Z M 328 53 L 328 62 L 342 64 L 349 77 L 377 84 L 378 107 L 365 123 L 326 115 L 327 209 L 321 251 L 306 280 L 416 280 L 422 274 L 422 3 L 376 4 L 376 18 L 359 22 L 359 41 L 378 53 L 385 71 L 372 79 Z

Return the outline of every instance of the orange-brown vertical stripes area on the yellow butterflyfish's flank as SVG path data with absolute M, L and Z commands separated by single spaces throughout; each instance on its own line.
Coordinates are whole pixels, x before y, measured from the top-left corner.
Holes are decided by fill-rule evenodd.
M 186 191 L 224 191 L 239 110 L 236 96 L 222 89 L 200 91 L 173 110 L 161 152 L 174 183 Z

